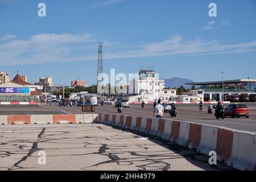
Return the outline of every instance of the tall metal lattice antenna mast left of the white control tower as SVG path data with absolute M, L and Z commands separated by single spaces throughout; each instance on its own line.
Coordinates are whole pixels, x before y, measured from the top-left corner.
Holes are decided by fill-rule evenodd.
M 103 95 L 103 85 L 102 81 L 103 81 L 103 77 L 102 77 L 102 73 L 103 73 L 103 61 L 102 61 L 102 43 L 98 43 L 98 77 L 97 77 L 97 91 L 98 91 L 98 95 Z M 101 85 L 99 87 L 99 85 Z M 99 90 L 100 89 L 100 90 Z

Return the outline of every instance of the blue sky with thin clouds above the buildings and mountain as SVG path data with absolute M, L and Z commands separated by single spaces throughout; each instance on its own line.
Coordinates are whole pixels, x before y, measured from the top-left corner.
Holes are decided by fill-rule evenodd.
M 46 3 L 46 17 L 38 4 Z M 208 5 L 217 5 L 209 17 Z M 97 80 L 104 72 L 154 66 L 162 78 L 194 81 L 256 78 L 256 1 L 0 0 L 0 70 L 34 83 Z

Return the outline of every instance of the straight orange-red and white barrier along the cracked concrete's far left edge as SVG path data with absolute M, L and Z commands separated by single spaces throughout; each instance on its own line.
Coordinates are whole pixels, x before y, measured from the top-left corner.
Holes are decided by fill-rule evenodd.
M 0 115 L 0 125 L 97 122 L 98 114 Z

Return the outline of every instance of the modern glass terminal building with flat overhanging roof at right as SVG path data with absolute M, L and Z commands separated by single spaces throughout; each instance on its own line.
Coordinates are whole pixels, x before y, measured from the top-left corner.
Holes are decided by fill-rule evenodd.
M 254 79 L 227 80 L 223 83 L 224 89 L 222 81 L 189 82 L 186 85 L 195 85 L 196 88 L 203 90 L 205 101 L 210 99 L 222 101 L 227 95 L 256 95 L 256 80 Z

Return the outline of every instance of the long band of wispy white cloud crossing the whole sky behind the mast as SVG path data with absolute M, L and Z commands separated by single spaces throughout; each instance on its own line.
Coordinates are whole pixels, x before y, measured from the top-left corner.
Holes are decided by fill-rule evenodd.
M 9 40 L 0 43 L 1 65 L 63 63 L 97 60 L 96 35 L 92 34 L 39 34 L 27 40 Z M 121 46 L 104 41 L 104 59 L 153 57 L 167 55 L 205 55 L 253 52 L 256 41 L 224 44 L 217 40 L 183 40 L 179 35 L 162 42 L 137 46 Z

